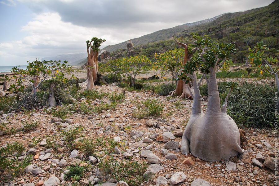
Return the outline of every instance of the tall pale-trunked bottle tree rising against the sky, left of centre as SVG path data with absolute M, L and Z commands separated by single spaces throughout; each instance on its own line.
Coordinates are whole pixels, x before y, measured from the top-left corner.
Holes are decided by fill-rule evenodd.
M 85 82 L 81 83 L 81 86 L 86 86 L 87 89 L 94 88 L 94 82 L 97 80 L 98 69 L 98 53 L 100 51 L 99 47 L 106 40 L 92 38 L 91 41 L 86 41 L 87 47 L 87 79 Z

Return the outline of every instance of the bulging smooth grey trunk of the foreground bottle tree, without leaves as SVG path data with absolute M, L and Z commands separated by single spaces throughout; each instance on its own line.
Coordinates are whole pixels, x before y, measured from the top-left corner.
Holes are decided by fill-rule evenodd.
M 236 123 L 226 112 L 221 111 L 215 71 L 216 66 L 210 67 L 209 98 L 205 114 L 199 108 L 201 102 L 199 91 L 194 88 L 192 113 L 181 141 L 182 154 L 191 151 L 193 156 L 209 162 L 228 160 L 238 153 L 243 153 Z M 195 84 L 193 82 L 193 85 Z

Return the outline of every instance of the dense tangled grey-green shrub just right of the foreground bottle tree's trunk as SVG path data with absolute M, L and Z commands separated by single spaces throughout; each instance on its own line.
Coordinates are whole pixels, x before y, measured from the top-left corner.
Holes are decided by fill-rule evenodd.
M 228 99 L 228 114 L 239 126 L 272 127 L 275 86 L 243 83 Z M 278 93 L 277 93 L 278 94 Z

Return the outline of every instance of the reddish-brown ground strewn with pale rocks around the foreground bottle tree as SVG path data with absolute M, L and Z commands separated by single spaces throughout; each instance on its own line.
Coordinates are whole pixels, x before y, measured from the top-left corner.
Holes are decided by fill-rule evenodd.
M 117 86 L 95 86 L 97 91 L 121 93 Z M 159 117 L 144 117 L 139 120 L 133 117 L 138 109 L 139 101 L 149 98 L 158 99 L 164 104 L 163 113 Z M 79 100 L 77 100 L 78 103 Z M 81 100 L 85 101 L 85 100 Z M 107 98 L 96 100 L 98 105 Z M 32 154 L 31 165 L 22 174 L 12 178 L 12 173 L 0 171 L 0 185 L 98 185 L 98 161 L 95 157 L 86 157 L 77 148 L 67 150 L 63 139 L 53 141 L 60 148 L 47 148 L 47 136 L 59 135 L 82 126 L 81 134 L 92 138 L 104 137 L 119 141 L 112 157 L 117 161 L 147 162 L 148 181 L 141 185 L 275 185 L 275 156 L 278 152 L 277 133 L 271 129 L 244 128 L 241 131 L 242 148 L 246 149 L 240 157 L 232 157 L 228 161 L 205 162 L 191 154 L 180 153 L 180 141 L 185 125 L 191 113 L 192 100 L 166 99 L 166 96 L 154 96 L 149 91 L 127 92 L 125 100 L 118 104 L 115 110 L 102 113 L 84 114 L 72 112 L 67 119 L 53 117 L 46 108 L 34 110 L 31 113 L 1 113 L 1 122 L 8 128 L 22 128 L 24 122 L 37 121 L 38 126 L 31 131 L 19 131 L 16 134 L 5 135 L 0 131 L 0 146 L 7 143 L 20 142 L 24 144 L 24 152 L 18 160 Z M 202 103 L 205 111 L 206 102 Z M 246 134 L 245 134 L 246 133 Z M 32 138 L 41 139 L 36 146 L 31 146 Z M 247 140 L 247 141 L 246 141 Z M 16 159 L 17 157 L 8 157 Z M 68 166 L 91 166 L 77 182 L 65 178 Z M 97 169 L 97 170 L 96 170 Z M 8 177 L 8 179 L 7 179 Z M 120 180 L 109 179 L 104 185 L 125 185 Z M 112 183 L 113 182 L 113 183 Z M 117 183 L 117 184 L 116 184 Z M 203 183 L 203 184 L 201 184 Z

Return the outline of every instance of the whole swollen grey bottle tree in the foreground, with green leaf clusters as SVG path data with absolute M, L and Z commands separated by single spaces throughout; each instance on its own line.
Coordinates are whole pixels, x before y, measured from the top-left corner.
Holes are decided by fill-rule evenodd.
M 210 38 L 193 35 L 195 47 L 193 57 L 183 65 L 183 73 L 179 79 L 193 86 L 189 90 L 193 95 L 192 113 L 185 127 L 181 153 L 192 153 L 202 160 L 213 162 L 228 160 L 243 153 L 240 147 L 240 135 L 236 123 L 226 113 L 227 104 L 220 105 L 216 72 L 228 64 L 230 53 L 235 53 L 235 45 L 219 42 L 211 43 Z M 185 46 L 186 50 L 187 46 Z M 202 73 L 197 80 L 197 72 Z M 208 83 L 208 103 L 206 112 L 201 110 L 201 94 L 199 86 L 202 79 Z M 237 90 L 237 84 L 228 83 L 231 91 Z M 228 97 L 228 96 L 227 96 Z

